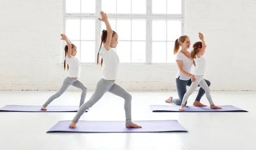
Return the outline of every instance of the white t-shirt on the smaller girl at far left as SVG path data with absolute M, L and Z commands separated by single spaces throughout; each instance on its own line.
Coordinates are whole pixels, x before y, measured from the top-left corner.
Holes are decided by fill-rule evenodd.
M 79 60 L 71 55 L 70 58 L 66 56 L 66 63 L 69 66 L 68 69 L 68 76 L 70 78 L 79 78 L 80 77 L 80 72 L 81 72 L 81 66 Z

